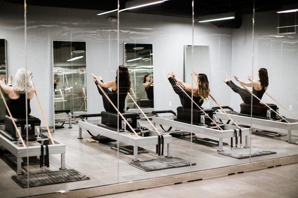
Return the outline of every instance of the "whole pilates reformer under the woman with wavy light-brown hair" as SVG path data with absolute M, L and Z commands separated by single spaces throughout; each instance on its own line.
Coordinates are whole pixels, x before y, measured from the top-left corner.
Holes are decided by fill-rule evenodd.
M 183 88 L 179 86 L 177 82 L 176 82 L 176 85 L 181 89 L 181 91 L 183 91 L 187 95 L 187 93 L 183 90 Z M 214 98 L 212 97 L 212 99 Z M 249 129 L 244 127 L 239 127 L 238 125 L 234 126 L 229 124 L 223 124 L 222 122 L 217 120 L 214 109 L 203 109 L 195 102 L 194 104 L 197 105 L 200 110 L 184 108 L 183 106 L 180 106 L 177 108 L 177 114 L 172 110 L 152 111 L 153 113 L 152 122 L 154 123 L 154 125 L 159 124 L 162 129 L 163 129 L 163 125 L 169 126 L 170 128 L 167 131 L 163 129 L 166 132 L 170 131 L 172 127 L 175 127 L 180 130 L 191 132 L 196 136 L 206 135 L 206 136 L 218 138 L 219 139 L 218 151 L 223 151 L 224 138 L 231 139 L 231 148 L 233 147 L 232 140 L 233 138 L 235 138 L 235 143 L 237 148 L 238 137 L 239 137 L 240 148 L 241 148 L 242 136 L 245 136 L 244 148 L 249 148 L 249 144 L 248 144 Z M 166 113 L 166 116 L 161 116 L 161 114 L 163 113 Z M 169 113 L 171 115 L 169 115 Z

